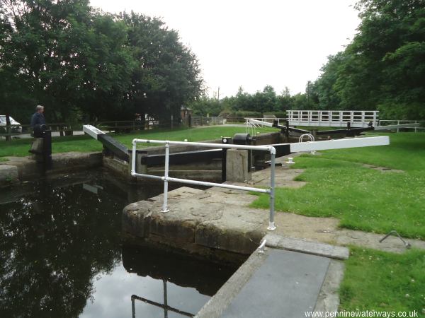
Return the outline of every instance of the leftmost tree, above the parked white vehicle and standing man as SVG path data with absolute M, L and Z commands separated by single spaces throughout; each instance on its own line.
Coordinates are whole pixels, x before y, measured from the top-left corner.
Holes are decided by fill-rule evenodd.
M 48 116 L 64 119 L 72 109 L 69 96 L 75 93 L 69 88 L 79 72 L 70 63 L 79 52 L 67 49 L 67 41 L 89 20 L 88 1 L 1 0 L 0 4 L 0 67 L 6 71 L 1 81 L 18 84 L 26 96 L 23 100 L 28 100 L 23 107 L 33 110 L 29 102 L 37 101 L 47 106 Z

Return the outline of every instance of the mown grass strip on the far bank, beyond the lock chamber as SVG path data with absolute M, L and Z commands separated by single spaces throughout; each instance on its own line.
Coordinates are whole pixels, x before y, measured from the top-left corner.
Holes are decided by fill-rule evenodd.
M 258 129 L 257 131 L 276 131 L 276 129 Z M 233 136 L 234 134 L 244 132 L 244 127 L 212 126 L 192 129 L 139 131 L 132 134 L 111 134 L 111 136 L 130 148 L 132 145 L 132 139 L 135 138 L 172 141 L 183 141 L 184 139 L 188 139 L 188 141 L 204 141 L 209 139 L 219 139 L 220 136 Z M 11 142 L 1 140 L 0 160 L 1 157 L 6 156 L 24 157 L 28 155 L 31 141 L 32 139 L 15 139 Z M 53 153 L 66 153 L 69 151 L 90 152 L 101 150 L 101 143 L 90 136 L 64 136 L 52 138 Z

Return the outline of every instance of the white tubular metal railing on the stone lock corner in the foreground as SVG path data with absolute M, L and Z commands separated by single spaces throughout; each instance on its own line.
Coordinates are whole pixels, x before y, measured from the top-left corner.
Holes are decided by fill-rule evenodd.
M 164 143 L 165 144 L 165 168 L 164 176 L 157 175 L 147 175 L 136 172 L 136 153 L 137 153 L 137 143 Z M 169 155 L 170 155 L 170 145 L 188 145 L 188 146 L 198 146 L 203 148 L 233 148 L 241 150 L 256 150 L 256 151 L 268 151 L 271 155 L 271 179 L 270 179 L 270 189 L 260 189 L 254 187 L 242 187 L 232 184 L 223 184 L 223 183 L 214 183 L 214 182 L 203 182 L 196 181 L 191 179 L 179 179 L 174 177 L 169 177 Z M 133 177 L 145 177 L 148 179 L 159 179 L 164 181 L 164 201 L 162 204 L 162 212 L 169 212 L 168 208 L 168 182 L 180 182 L 183 184 L 195 184 L 205 187 L 222 187 L 227 189 L 267 193 L 270 195 L 270 216 L 268 221 L 268 230 L 275 230 L 276 225 L 274 223 L 274 201 L 275 201 L 275 159 L 276 159 L 276 149 L 273 146 L 244 146 L 244 145 L 229 145 L 225 143 L 194 143 L 188 141 L 165 141 L 165 140 L 149 140 L 149 139 L 133 139 L 132 141 L 132 160 L 131 160 L 131 175 Z

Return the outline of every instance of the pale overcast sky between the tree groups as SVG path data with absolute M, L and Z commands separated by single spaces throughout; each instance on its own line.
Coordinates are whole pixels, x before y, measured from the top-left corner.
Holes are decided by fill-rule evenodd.
M 355 0 L 91 0 L 103 11 L 162 18 L 200 61 L 209 95 L 305 92 L 327 56 L 344 49 L 360 20 Z

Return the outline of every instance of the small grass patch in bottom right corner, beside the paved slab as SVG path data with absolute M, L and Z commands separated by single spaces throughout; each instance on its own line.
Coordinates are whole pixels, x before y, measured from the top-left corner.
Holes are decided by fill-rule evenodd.
M 340 310 L 416 310 L 418 317 L 424 317 L 424 251 L 412 249 L 393 254 L 358 247 L 350 249 L 339 290 Z

